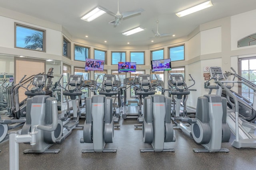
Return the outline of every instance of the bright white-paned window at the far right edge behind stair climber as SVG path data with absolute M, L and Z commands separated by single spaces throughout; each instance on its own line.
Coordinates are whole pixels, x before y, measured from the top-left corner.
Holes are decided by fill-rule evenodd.
M 256 57 L 242 58 L 239 59 L 239 74 L 243 78 L 256 84 Z M 241 94 L 245 99 L 253 102 L 254 91 L 244 84 L 239 84 L 238 93 Z

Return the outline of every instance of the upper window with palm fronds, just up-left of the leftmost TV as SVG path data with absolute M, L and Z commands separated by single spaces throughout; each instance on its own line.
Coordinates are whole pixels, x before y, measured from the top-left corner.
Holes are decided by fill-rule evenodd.
M 85 61 L 89 59 L 90 47 L 83 47 L 80 45 L 74 44 L 74 60 L 76 61 Z

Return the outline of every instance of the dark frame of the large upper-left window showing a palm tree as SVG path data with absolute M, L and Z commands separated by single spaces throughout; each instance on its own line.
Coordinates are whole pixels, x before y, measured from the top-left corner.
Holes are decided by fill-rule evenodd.
M 24 48 L 24 47 L 17 47 L 17 29 L 16 29 L 17 26 L 18 27 L 23 27 L 23 28 L 26 28 L 26 29 L 31 29 L 31 30 L 34 30 L 34 31 L 42 32 L 42 34 L 43 34 L 43 39 L 42 39 L 43 40 L 43 42 L 42 42 L 43 48 L 42 48 L 42 50 L 28 49 L 28 48 Z M 46 29 L 41 29 L 41 28 L 30 26 L 30 25 L 25 25 L 25 24 L 22 24 L 22 23 L 14 22 L 14 48 L 26 49 L 26 50 L 31 50 L 31 51 L 40 51 L 40 52 L 46 53 Z

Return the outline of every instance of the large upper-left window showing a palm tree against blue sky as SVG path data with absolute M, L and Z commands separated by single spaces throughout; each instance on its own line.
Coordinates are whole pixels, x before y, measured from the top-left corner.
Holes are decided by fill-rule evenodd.
M 46 30 L 14 23 L 14 47 L 46 52 Z

